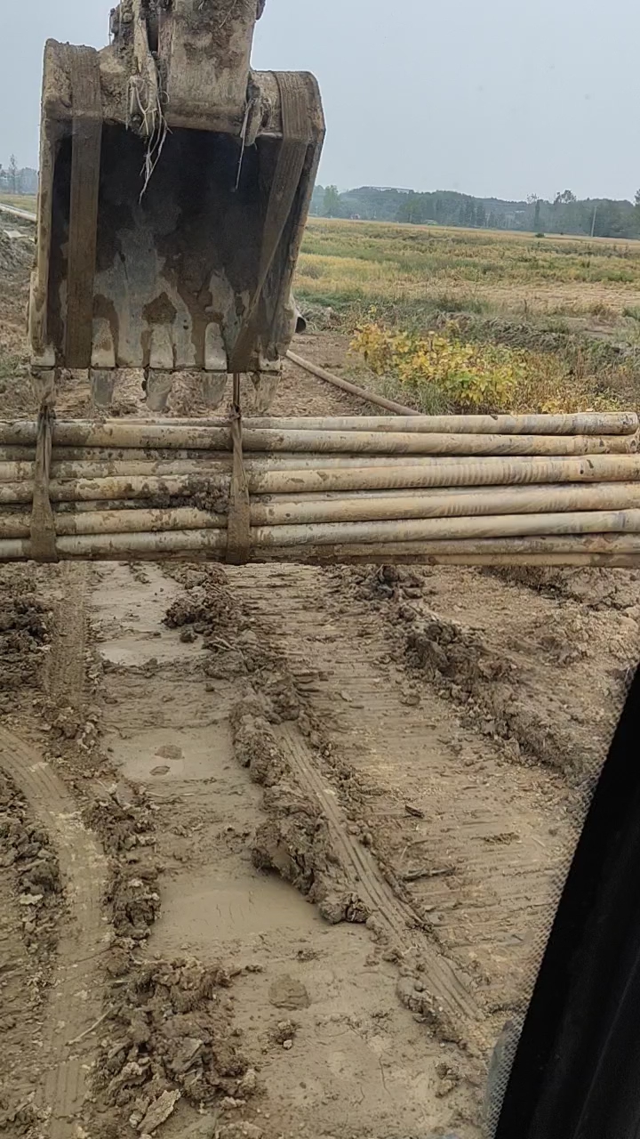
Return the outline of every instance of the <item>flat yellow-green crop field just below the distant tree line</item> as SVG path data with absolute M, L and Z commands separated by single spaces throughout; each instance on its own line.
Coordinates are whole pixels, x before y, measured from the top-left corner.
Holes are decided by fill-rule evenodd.
M 297 289 L 337 305 L 444 298 L 476 312 L 615 320 L 640 308 L 640 241 L 311 219 Z

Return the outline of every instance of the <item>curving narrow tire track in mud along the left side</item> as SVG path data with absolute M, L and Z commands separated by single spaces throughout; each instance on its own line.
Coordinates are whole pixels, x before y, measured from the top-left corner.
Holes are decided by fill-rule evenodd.
M 77 711 L 85 689 L 89 573 L 84 564 L 60 570 L 61 596 L 55 604 L 46 678 L 50 698 Z M 66 912 L 44 1013 L 35 1103 L 48 1121 L 49 1139 L 75 1139 L 95 1060 L 96 1036 L 90 1030 L 102 1008 L 101 954 L 109 943 L 102 913 L 107 860 L 51 764 L 36 747 L 5 728 L 0 728 L 0 768 L 19 788 L 58 854 Z

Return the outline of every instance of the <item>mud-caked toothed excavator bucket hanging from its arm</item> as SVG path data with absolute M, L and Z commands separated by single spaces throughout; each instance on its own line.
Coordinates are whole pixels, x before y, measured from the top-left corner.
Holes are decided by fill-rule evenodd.
M 325 123 L 307 74 L 252 71 L 264 0 L 123 0 L 102 51 L 48 42 L 32 367 L 88 369 L 108 403 L 143 369 L 207 402 L 247 372 L 266 408 Z

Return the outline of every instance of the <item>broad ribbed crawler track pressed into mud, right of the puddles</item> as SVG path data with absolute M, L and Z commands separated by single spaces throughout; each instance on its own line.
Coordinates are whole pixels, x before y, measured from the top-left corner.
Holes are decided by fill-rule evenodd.
M 427 961 L 419 980 L 460 1039 L 484 1048 L 502 1027 L 501 1010 L 527 994 L 536 931 L 566 858 L 561 779 L 501 760 L 428 686 L 408 693 L 385 657 L 385 618 L 330 575 L 263 567 L 229 576 L 294 680 L 301 669 L 321 674 L 302 690 L 333 740 L 336 787 L 340 763 L 360 784 L 354 805 L 380 863 L 351 837 L 333 777 L 295 723 L 276 736 L 320 801 L 358 893 L 405 952 Z M 415 867 L 413 880 L 405 871 Z M 428 933 L 417 932 L 432 915 Z M 400 992 L 411 1001 L 404 980 Z

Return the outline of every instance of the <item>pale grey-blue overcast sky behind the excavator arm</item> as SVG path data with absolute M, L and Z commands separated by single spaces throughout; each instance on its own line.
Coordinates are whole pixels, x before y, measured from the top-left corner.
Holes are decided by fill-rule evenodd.
M 2 7 L 0 162 L 36 165 L 43 41 L 101 47 L 110 5 Z M 254 65 L 318 75 L 323 183 L 632 197 L 639 42 L 635 0 L 266 0 Z

